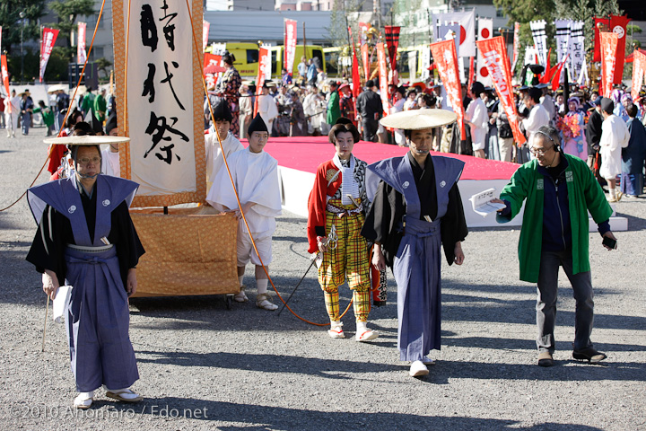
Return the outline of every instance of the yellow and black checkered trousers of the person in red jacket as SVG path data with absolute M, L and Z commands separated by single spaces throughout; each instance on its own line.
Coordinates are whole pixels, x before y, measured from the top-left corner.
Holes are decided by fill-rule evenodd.
M 329 204 L 354 209 L 354 204 L 343 205 L 341 199 L 330 199 Z M 339 320 L 338 286 L 345 283 L 353 290 L 354 317 L 366 321 L 370 312 L 370 254 L 361 235 L 362 214 L 342 216 L 326 212 L 326 233 L 336 226 L 336 249 L 323 253 L 319 267 L 319 284 L 323 289 L 327 314 L 332 321 Z

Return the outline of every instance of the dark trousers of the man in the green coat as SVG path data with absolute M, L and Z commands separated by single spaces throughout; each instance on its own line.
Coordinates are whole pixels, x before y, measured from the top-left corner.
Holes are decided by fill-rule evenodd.
M 574 349 L 582 350 L 592 346 L 589 338 L 594 322 L 594 295 L 590 272 L 572 274 L 572 251 L 542 251 L 537 287 L 537 347 L 539 351 L 550 353 L 554 353 L 554 323 L 560 266 L 570 279 L 576 301 Z

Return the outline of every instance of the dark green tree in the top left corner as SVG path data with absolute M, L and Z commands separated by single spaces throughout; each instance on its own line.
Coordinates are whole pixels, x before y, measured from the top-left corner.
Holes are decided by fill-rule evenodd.
M 22 40 L 39 40 L 38 20 L 45 14 L 45 0 L 2 0 L 0 2 L 0 26 L 2 26 L 2 50 L 8 56 L 17 56 L 20 61 L 21 17 L 24 13 Z M 17 53 L 16 53 L 16 47 Z

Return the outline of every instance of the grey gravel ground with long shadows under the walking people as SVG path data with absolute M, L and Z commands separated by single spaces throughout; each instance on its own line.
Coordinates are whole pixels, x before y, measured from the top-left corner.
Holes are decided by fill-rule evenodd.
M 44 131 L 12 140 L 0 133 L 0 207 L 6 207 L 43 163 Z M 134 389 L 145 400 L 118 404 L 100 390 L 93 408 L 79 412 L 70 407 L 74 380 L 62 325 L 48 322 L 40 351 L 45 296 L 39 274 L 24 260 L 35 224 L 22 199 L 0 213 L 0 428 L 646 429 L 646 356 L 640 356 L 646 351 L 646 199 L 616 208 L 630 228 L 616 234 L 618 251 L 605 251 L 598 233 L 590 233 L 593 339 L 608 354 L 604 365 L 572 360 L 574 302 L 563 272 L 557 365 L 536 365 L 536 293 L 518 279 L 519 231 L 475 229 L 464 243 L 465 264 L 442 269 L 442 349 L 422 379 L 408 377 L 407 364 L 398 360 L 392 277 L 388 305 L 371 312 L 370 325 L 381 336 L 366 344 L 330 339 L 323 328 L 252 302 L 229 311 L 223 296 L 135 298 L 130 337 L 141 380 Z M 270 273 L 282 295 L 309 264 L 305 227 L 290 214 L 278 220 Z M 342 288 L 342 303 L 349 299 Z M 291 304 L 311 321 L 327 321 L 313 271 Z M 347 335 L 354 335 L 352 312 L 344 321 Z

